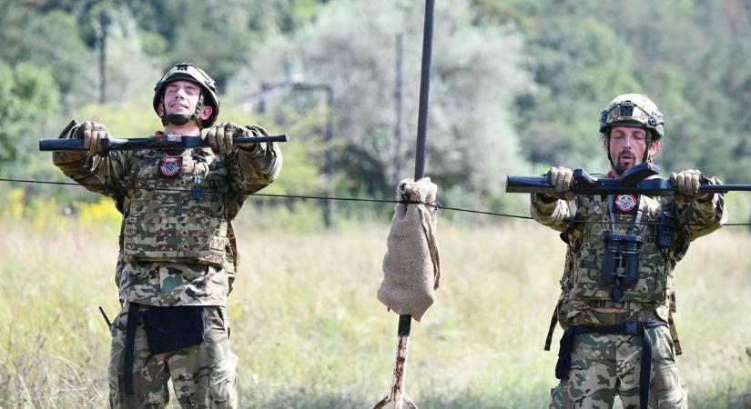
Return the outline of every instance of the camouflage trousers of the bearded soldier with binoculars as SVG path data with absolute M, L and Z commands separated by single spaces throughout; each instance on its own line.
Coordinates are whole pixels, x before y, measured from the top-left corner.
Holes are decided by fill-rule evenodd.
M 650 409 L 685 409 L 685 385 L 680 383 L 670 330 L 646 330 L 652 338 Z M 640 335 L 580 334 L 573 344 L 571 372 L 553 389 L 551 409 L 610 409 L 615 396 L 624 409 L 639 409 Z

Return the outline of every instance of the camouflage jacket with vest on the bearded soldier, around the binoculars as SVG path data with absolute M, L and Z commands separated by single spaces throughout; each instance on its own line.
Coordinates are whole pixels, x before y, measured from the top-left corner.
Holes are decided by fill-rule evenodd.
M 720 182 L 713 178 L 710 183 Z M 624 308 L 636 319 L 656 314 L 668 322 L 671 310 L 675 309 L 672 303 L 675 264 L 684 256 L 690 242 L 715 231 L 727 219 L 725 198 L 719 194 L 686 204 L 675 203 L 673 197 L 642 196 L 638 199 L 632 195 L 624 203 L 631 207 L 629 212 L 615 211 L 614 207 L 622 204 L 615 204 L 607 196 L 576 195 L 567 202 L 532 195 L 533 218 L 563 232 L 562 238 L 568 244 L 562 294 L 556 308 L 564 328 L 570 324 L 613 324 L 603 322 L 601 315 L 592 311 L 593 307 Z M 675 204 L 677 228 L 673 244 L 663 248 L 655 244 L 655 230 L 660 214 L 671 204 Z M 633 234 L 641 241 L 639 278 L 635 284 L 624 285 L 625 301 L 615 302 L 611 296 L 614 284 L 607 283 L 602 274 L 606 251 L 604 236 L 626 234 L 634 224 Z M 644 315 L 645 311 L 654 314 Z

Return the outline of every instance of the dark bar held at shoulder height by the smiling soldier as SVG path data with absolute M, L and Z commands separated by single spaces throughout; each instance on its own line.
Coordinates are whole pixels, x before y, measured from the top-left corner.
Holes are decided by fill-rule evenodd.
M 243 136 L 232 140 L 233 144 L 251 144 L 257 142 L 287 142 L 288 135 Z M 185 135 L 157 135 L 147 138 L 107 138 L 100 141 L 112 151 L 127 151 L 138 149 L 179 149 L 194 147 L 209 147 L 208 139 L 200 136 Z M 39 139 L 40 151 L 85 151 L 84 140 L 78 138 Z

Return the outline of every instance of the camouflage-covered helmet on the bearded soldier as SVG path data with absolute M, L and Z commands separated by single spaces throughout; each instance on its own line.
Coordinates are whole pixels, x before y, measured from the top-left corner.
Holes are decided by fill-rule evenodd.
M 614 98 L 600 114 L 600 133 L 608 135 L 613 126 L 644 128 L 651 140 L 665 135 L 665 119 L 652 100 L 644 94 L 622 94 Z

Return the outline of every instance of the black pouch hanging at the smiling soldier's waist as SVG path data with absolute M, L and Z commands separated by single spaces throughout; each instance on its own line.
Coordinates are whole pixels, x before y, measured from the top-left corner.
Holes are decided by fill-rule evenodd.
M 144 327 L 151 354 L 177 351 L 203 342 L 203 307 L 152 307 L 145 311 Z

